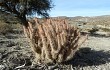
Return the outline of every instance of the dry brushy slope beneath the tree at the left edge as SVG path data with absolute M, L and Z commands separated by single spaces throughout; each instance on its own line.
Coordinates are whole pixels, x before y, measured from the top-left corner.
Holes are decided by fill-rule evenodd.
M 0 34 L 14 32 L 14 30 L 22 30 L 23 27 L 19 24 L 16 17 L 0 11 Z

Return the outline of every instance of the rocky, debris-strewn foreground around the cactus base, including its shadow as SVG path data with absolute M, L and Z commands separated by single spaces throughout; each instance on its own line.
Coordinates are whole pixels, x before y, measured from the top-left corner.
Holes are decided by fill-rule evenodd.
M 110 70 L 110 37 L 89 36 L 74 59 L 62 64 L 35 64 L 34 58 L 23 34 L 0 34 L 0 70 Z

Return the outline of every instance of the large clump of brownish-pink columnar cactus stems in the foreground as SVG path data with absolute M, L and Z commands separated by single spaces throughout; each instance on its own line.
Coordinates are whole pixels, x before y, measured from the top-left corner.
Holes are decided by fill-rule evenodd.
M 47 19 L 24 28 L 30 38 L 36 61 L 41 63 L 64 62 L 73 58 L 78 47 L 86 40 L 78 28 L 63 19 Z

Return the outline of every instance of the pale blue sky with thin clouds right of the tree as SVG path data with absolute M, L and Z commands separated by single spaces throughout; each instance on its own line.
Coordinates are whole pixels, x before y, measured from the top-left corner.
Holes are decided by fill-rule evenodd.
M 110 0 L 52 0 L 55 5 L 49 12 L 56 16 L 110 15 Z

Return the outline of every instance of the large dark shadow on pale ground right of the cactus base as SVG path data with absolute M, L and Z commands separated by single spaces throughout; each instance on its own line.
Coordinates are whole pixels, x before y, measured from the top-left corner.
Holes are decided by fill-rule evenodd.
M 97 66 L 110 62 L 110 51 L 96 51 L 91 48 L 80 48 L 76 52 L 74 59 L 65 62 L 64 64 L 71 64 L 77 66 Z

